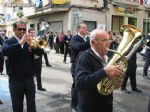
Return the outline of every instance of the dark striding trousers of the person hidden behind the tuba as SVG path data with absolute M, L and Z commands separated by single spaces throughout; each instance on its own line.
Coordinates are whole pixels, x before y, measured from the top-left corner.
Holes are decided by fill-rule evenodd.
M 136 67 L 128 68 L 127 69 L 126 74 L 124 76 L 124 80 L 123 80 L 123 84 L 122 84 L 121 88 L 122 89 L 126 88 L 126 84 L 127 84 L 127 81 L 128 81 L 129 77 L 130 77 L 130 83 L 131 83 L 132 90 L 136 89 Z

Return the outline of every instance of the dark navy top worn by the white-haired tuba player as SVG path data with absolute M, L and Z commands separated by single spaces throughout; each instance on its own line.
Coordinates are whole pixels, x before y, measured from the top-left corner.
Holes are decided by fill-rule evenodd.
M 97 90 L 97 84 L 106 76 L 100 58 L 91 49 L 80 54 L 75 69 L 75 81 L 81 112 L 112 111 L 112 94 L 100 95 Z

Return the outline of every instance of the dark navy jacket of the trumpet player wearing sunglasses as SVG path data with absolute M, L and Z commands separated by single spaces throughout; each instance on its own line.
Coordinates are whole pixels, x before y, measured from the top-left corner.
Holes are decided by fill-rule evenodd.
M 22 48 L 14 37 L 3 43 L 2 54 L 8 57 L 8 75 L 10 80 L 25 81 L 33 77 L 34 52 L 36 50 L 29 50 L 27 43 Z

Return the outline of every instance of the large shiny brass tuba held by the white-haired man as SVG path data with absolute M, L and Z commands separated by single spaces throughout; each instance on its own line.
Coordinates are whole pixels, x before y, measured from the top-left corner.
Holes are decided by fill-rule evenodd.
M 131 56 L 137 51 L 139 47 L 145 44 L 144 34 L 132 25 L 123 25 L 123 37 L 116 51 L 108 49 L 115 54 L 110 59 L 107 66 L 119 65 L 123 69 L 123 74 L 127 70 L 128 62 Z M 119 88 L 118 85 L 123 81 L 122 76 L 110 76 L 102 79 L 97 84 L 98 92 L 102 95 L 109 95 Z

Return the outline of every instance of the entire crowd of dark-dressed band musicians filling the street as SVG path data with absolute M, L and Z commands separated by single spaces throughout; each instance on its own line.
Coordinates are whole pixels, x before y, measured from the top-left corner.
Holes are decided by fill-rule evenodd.
M 51 65 L 44 49 L 29 44 L 30 40 L 35 37 L 35 29 L 27 30 L 26 23 L 17 21 L 13 24 L 13 32 L 14 35 L 11 38 L 6 36 L 6 30 L 0 34 L 0 74 L 3 75 L 5 60 L 13 112 L 23 112 L 24 96 L 27 101 L 27 112 L 36 112 L 36 88 L 33 78 L 36 76 L 37 90 L 46 91 L 41 80 L 42 56 L 45 58 L 46 66 L 51 67 Z M 130 78 L 132 91 L 141 93 L 142 91 L 137 88 L 136 84 L 136 53 L 142 49 L 138 49 L 128 60 L 127 71 L 123 74 L 123 68 L 118 65 L 106 66 L 113 56 L 108 49 L 116 50 L 119 46 L 117 35 L 100 29 L 94 29 L 90 35 L 87 35 L 87 32 L 87 25 L 80 23 L 76 34 L 68 30 L 67 34 L 63 31 L 47 32 L 44 37 L 50 49 L 55 49 L 56 53 L 64 55 L 63 63 L 66 63 L 67 55 L 70 57 L 70 72 L 73 81 L 71 111 L 112 112 L 113 92 L 102 95 L 97 90 L 97 84 L 106 77 L 125 75 L 122 83 L 117 85 L 121 91 L 131 93 L 126 89 L 127 80 Z M 147 74 L 149 43 L 147 46 L 145 53 L 147 61 L 145 61 L 143 77 L 149 79 Z M 0 100 L 0 104 L 2 103 Z

